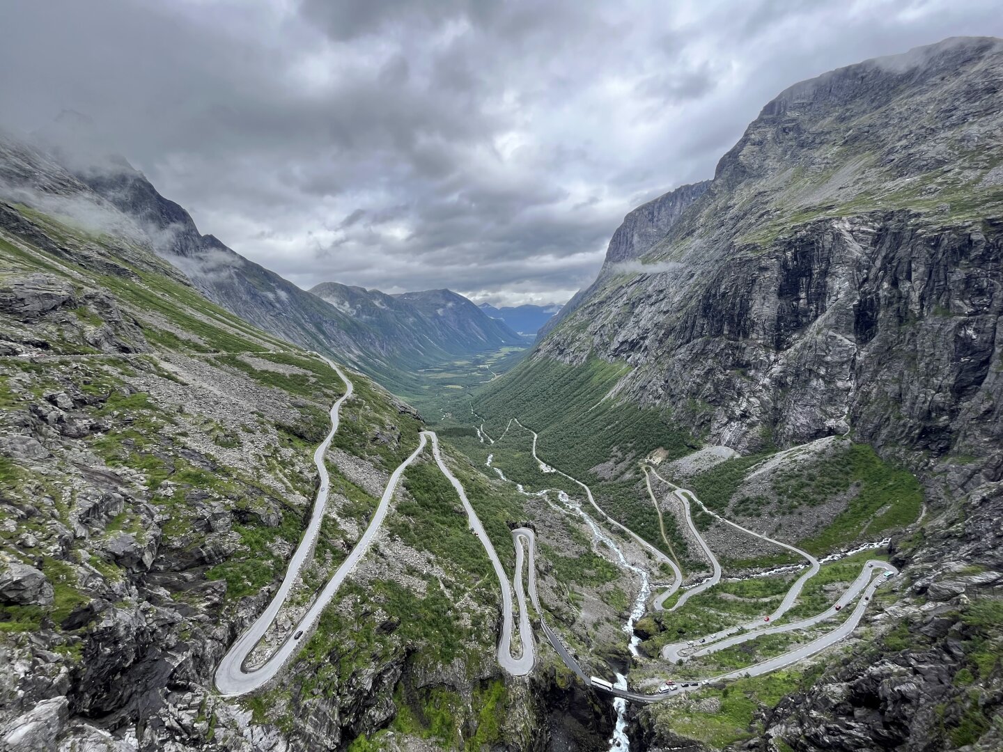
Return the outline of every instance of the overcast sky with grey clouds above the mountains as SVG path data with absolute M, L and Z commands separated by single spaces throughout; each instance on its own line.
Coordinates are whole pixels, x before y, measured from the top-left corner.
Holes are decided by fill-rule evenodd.
M 563 302 L 772 96 L 999 0 L 3 0 L 0 122 L 88 115 L 301 287 Z

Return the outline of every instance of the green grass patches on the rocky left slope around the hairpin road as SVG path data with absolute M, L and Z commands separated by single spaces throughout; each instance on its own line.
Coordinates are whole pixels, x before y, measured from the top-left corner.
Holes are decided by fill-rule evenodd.
M 240 521 L 233 527 L 239 538 L 237 551 L 209 568 L 205 575 L 207 580 L 227 584 L 226 603 L 229 605 L 225 608 L 228 611 L 235 608 L 243 597 L 256 595 L 263 587 L 279 579 L 285 569 L 285 556 L 276 552 L 279 550 L 276 543 L 285 541 L 286 544 L 295 544 L 305 521 L 302 508 L 288 504 L 282 494 L 263 483 L 261 478 L 265 475 L 276 477 L 280 484 L 295 489 L 304 498 L 312 499 L 314 479 L 309 475 L 298 476 L 292 466 L 295 463 L 290 463 L 286 457 L 292 452 L 301 460 L 300 466 L 310 461 L 316 442 L 326 433 L 329 425 L 327 408 L 343 391 L 341 380 L 326 364 L 306 353 L 266 354 L 267 350 L 293 351 L 297 348 L 206 301 L 176 276 L 158 273 L 159 262 L 144 255 L 141 250 L 129 249 L 129 254 L 121 255 L 118 253 L 119 246 L 112 239 L 95 238 L 34 213 L 26 212 L 25 216 L 60 246 L 75 250 L 86 248 L 88 251 L 82 256 L 53 255 L 20 239 L 0 237 L 0 251 L 11 263 L 11 274 L 18 276 L 42 272 L 71 281 L 79 291 L 107 292 L 126 315 L 139 324 L 148 346 L 154 351 L 148 356 L 129 360 L 98 357 L 95 353 L 92 360 L 73 361 L 75 373 L 82 377 L 85 391 L 109 395 L 93 411 L 93 417 L 112 420 L 114 428 L 88 438 L 89 448 L 110 467 L 127 468 L 137 473 L 140 483 L 154 494 L 151 500 L 165 518 L 162 523 L 165 542 L 174 540 L 186 548 L 195 548 L 205 539 L 205 535 L 197 531 L 191 517 L 193 504 L 188 499 L 192 492 L 198 491 L 203 497 L 208 493 L 210 500 L 217 499 L 237 513 Z M 77 263 L 74 258 L 99 258 L 108 263 L 96 267 Z M 119 274 L 95 271 L 98 268 L 106 270 L 109 266 L 122 271 Z M 76 316 L 81 325 L 102 324 L 100 317 L 89 308 L 82 308 Z M 48 333 L 53 331 L 54 327 L 50 327 Z M 75 330 L 66 331 L 65 337 L 53 336 L 50 339 L 56 352 L 94 352 L 76 335 Z M 140 342 L 134 344 L 144 346 Z M 235 431 L 214 424 L 210 418 L 200 417 L 198 404 L 193 404 L 189 413 L 181 415 L 164 409 L 147 394 L 129 393 L 124 385 L 126 377 L 137 373 L 177 381 L 160 367 L 161 358 L 170 358 L 171 353 L 189 352 L 256 353 L 255 357 L 304 371 L 284 374 L 259 370 L 242 357 L 230 354 L 202 359 L 207 365 L 220 369 L 221 373 L 242 377 L 274 390 L 280 395 L 280 401 L 286 401 L 288 417 L 274 419 L 261 413 L 249 414 L 245 427 Z M 21 409 L 27 406 L 28 401 L 39 399 L 47 391 L 65 388 L 65 384 L 58 379 L 47 378 L 47 373 L 55 372 L 50 365 L 20 359 L 3 365 L 7 373 L 0 375 L 0 409 Z M 7 388 L 10 377 L 19 371 L 35 379 L 32 394 Z M 400 410 L 388 394 L 366 378 L 352 378 L 355 395 L 344 405 L 342 427 L 334 446 L 389 471 L 417 444 L 420 422 Z M 128 427 L 121 427 L 115 422 L 125 418 Z M 205 466 L 193 465 L 180 457 L 180 438 L 193 430 L 193 423 L 224 448 L 240 446 L 242 432 L 257 432 L 266 425 L 271 426 L 278 443 L 274 454 L 261 458 L 262 465 L 254 473 L 216 462 Z M 379 439 L 380 436 L 389 436 L 394 440 Z M 448 448 L 446 452 L 449 453 Z M 499 555 L 511 568 L 514 551 L 505 520 L 519 517 L 519 499 L 495 492 L 477 470 L 461 459 L 452 461 Z M 312 463 L 309 466 L 312 468 Z M 357 524 L 366 524 L 376 499 L 352 484 L 330 463 L 329 468 L 332 490 L 351 499 L 343 511 L 355 516 Z M 0 462 L 0 488 L 5 494 L 20 497 L 44 493 L 46 482 L 45 478 L 34 475 L 15 461 L 3 458 Z M 442 594 L 434 580 L 431 581 L 434 586 L 427 588 L 424 597 L 392 580 L 371 581 L 366 587 L 350 582 L 337 602 L 325 610 L 322 629 L 307 646 L 296 672 L 290 678 L 290 684 L 250 700 L 259 720 L 275 718 L 278 712 L 279 720 L 287 728 L 292 728 L 293 719 L 281 715 L 288 713 L 291 695 L 309 697 L 316 687 L 321 687 L 328 695 L 337 692 L 341 686 L 339 677 L 349 678 L 362 667 L 377 665 L 381 659 L 389 660 L 402 646 L 409 654 L 413 653 L 409 660 L 432 670 L 449 664 L 454 658 L 467 661 L 468 670 L 473 670 L 473 667 L 483 665 L 482 654 L 485 651 L 493 653 L 495 625 L 491 615 L 496 609 L 497 589 L 491 582 L 492 573 L 483 549 L 466 531 L 465 517 L 453 509 L 453 506 L 459 505 L 455 494 L 451 487 L 444 484 L 434 465 L 427 463 L 408 473 L 405 483 L 413 500 L 404 503 L 399 512 L 391 514 L 387 522 L 388 531 L 405 538 L 419 550 L 431 552 L 450 572 L 450 587 L 459 588 L 460 594 L 472 589 L 469 597 L 480 604 L 481 613 L 474 614 L 474 622 L 467 624 L 462 614 L 451 609 L 451 601 Z M 168 489 L 168 492 L 157 493 L 161 488 Z M 55 489 L 50 493 L 58 497 Z M 277 521 L 268 518 L 273 509 L 279 511 Z M 126 508 L 109 523 L 108 531 L 133 531 L 142 535 L 141 525 L 138 512 Z M 2 533 L 4 547 L 9 553 L 18 555 L 13 540 L 23 531 L 23 526 L 19 525 L 16 533 Z M 343 558 L 345 547 L 350 547 L 352 543 L 353 539 L 338 521 L 329 518 L 322 528 L 316 555 L 336 566 Z M 378 548 L 377 545 L 377 556 L 380 555 Z M 126 577 L 117 565 L 95 557 L 89 551 L 81 549 L 79 553 L 70 555 L 84 560 L 89 558 L 92 566 L 109 581 L 120 581 Z M 86 594 L 74 587 L 75 577 L 68 571 L 64 572 L 67 565 L 63 561 L 47 560 L 43 570 L 56 588 L 53 606 L 3 609 L 0 613 L 0 633 L 16 635 L 43 625 L 58 625 L 73 608 L 89 600 Z M 311 572 L 308 571 L 305 577 L 308 583 L 312 582 Z M 313 585 L 319 587 L 320 583 Z M 179 594 L 179 598 L 190 596 Z M 348 604 L 347 611 L 352 616 L 345 616 L 344 609 L 339 612 L 338 604 Z M 392 635 L 380 629 L 381 623 L 374 621 L 379 614 L 386 617 L 389 623 L 401 625 L 400 629 Z M 82 644 L 80 637 L 80 634 L 68 633 L 65 642 L 56 645 L 56 648 L 68 653 L 75 651 L 78 657 Z M 388 637 L 392 639 L 384 639 Z M 334 664 L 329 660 L 332 651 L 340 656 Z M 404 688 L 398 688 L 398 694 L 403 692 Z M 452 708 L 457 718 L 472 714 L 475 723 L 471 728 L 475 727 L 475 731 L 471 731 L 471 743 L 479 745 L 500 741 L 499 719 L 504 718 L 504 709 L 509 702 L 503 682 L 490 679 L 478 681 L 472 704 L 449 692 L 443 689 L 440 694 L 445 694 L 433 697 L 425 696 L 427 693 L 423 694 L 423 691 L 408 690 L 394 727 L 429 738 L 441 736 L 445 733 L 442 729 L 447 729 L 449 740 L 452 740 L 460 723 L 454 722 L 451 716 L 443 720 L 443 708 L 448 707 Z M 358 744 L 364 742 L 360 740 Z

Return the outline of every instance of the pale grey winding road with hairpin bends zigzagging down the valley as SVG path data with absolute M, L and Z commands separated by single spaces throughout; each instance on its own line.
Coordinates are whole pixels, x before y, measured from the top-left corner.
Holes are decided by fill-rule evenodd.
M 248 692 L 252 692 L 268 681 L 273 679 L 282 667 L 290 660 L 290 658 L 297 652 L 299 647 L 301 647 L 306 640 L 304 637 L 309 633 L 309 631 L 314 627 L 318 618 L 320 617 L 323 609 L 331 602 L 331 600 L 336 595 L 338 589 L 344 583 L 345 579 L 351 574 L 354 568 L 357 566 L 359 560 L 365 555 L 366 551 L 371 546 L 373 540 L 379 533 L 380 526 L 386 517 L 387 511 L 389 510 L 390 501 L 393 497 L 394 491 L 400 482 L 400 479 L 407 469 L 407 467 L 414 462 L 414 460 L 421 454 L 424 450 L 426 444 L 431 443 L 432 446 L 432 456 L 435 462 L 442 472 L 443 475 L 449 480 L 450 484 L 455 489 L 459 499 L 463 505 L 463 509 L 467 515 L 467 523 L 469 528 L 477 535 L 481 544 L 487 553 L 488 558 L 491 561 L 491 566 L 494 570 L 495 576 L 498 580 L 498 587 L 501 591 L 501 633 L 499 635 L 497 644 L 497 661 L 501 668 L 514 676 L 526 676 L 528 675 L 534 667 L 536 662 L 536 650 L 535 642 L 533 636 L 532 625 L 530 622 L 530 609 L 527 603 L 527 589 L 524 588 L 524 569 L 526 570 L 526 582 L 528 584 L 528 594 L 529 602 L 532 603 L 533 608 L 536 610 L 540 616 L 541 627 L 544 631 L 545 636 L 548 641 L 554 647 L 555 651 L 558 653 L 561 660 L 578 675 L 584 682 L 594 686 L 596 689 L 608 692 L 616 697 L 622 697 L 627 700 L 633 700 L 635 702 L 656 702 L 659 700 L 666 699 L 669 695 L 667 694 L 657 694 L 657 695 L 645 695 L 641 693 L 631 692 L 627 689 L 621 689 L 614 687 L 613 689 L 608 689 L 599 685 L 595 685 L 592 680 L 586 676 L 585 672 L 582 670 L 581 666 L 575 657 L 568 651 L 565 645 L 562 643 L 560 638 L 556 633 L 551 630 L 544 619 L 544 611 L 541 608 L 539 601 L 539 596 L 537 594 L 537 580 L 536 580 L 536 534 L 528 527 L 519 527 L 512 531 L 513 543 L 516 548 L 516 573 L 515 573 L 515 591 L 516 591 L 516 601 L 519 606 L 519 639 L 521 643 L 521 648 L 514 650 L 514 635 L 515 635 L 515 615 L 514 615 L 514 605 L 513 605 L 513 587 L 506 576 L 505 569 L 501 567 L 500 559 L 497 556 L 496 551 L 487 536 L 480 519 L 477 517 L 472 505 L 470 504 L 466 492 L 463 489 L 462 483 L 453 475 L 452 471 L 449 469 L 445 461 L 443 460 L 441 450 L 439 448 L 438 436 L 434 431 L 421 431 L 419 434 L 418 446 L 414 451 L 403 461 L 401 464 L 393 471 L 389 481 L 387 482 L 386 488 L 383 491 L 383 495 L 380 498 L 379 504 L 373 514 L 369 525 L 366 527 L 362 536 L 359 538 L 356 545 L 352 548 L 351 552 L 345 558 L 345 560 L 338 567 L 337 571 L 328 581 L 327 585 L 324 587 L 321 594 L 317 597 L 314 603 L 311 605 L 307 613 L 300 620 L 296 628 L 290 631 L 290 637 L 287 638 L 283 644 L 278 648 L 278 650 L 273 653 L 261 666 L 249 669 L 247 668 L 247 660 L 251 652 L 255 649 L 258 643 L 265 636 L 269 627 L 275 621 L 278 616 L 279 611 L 284 605 L 286 599 L 289 596 L 290 591 L 293 588 L 297 578 L 300 575 L 300 571 L 307 560 L 307 558 L 312 553 L 314 544 L 316 543 L 317 536 L 320 532 L 320 525 L 323 521 L 324 512 L 327 505 L 328 491 L 330 486 L 330 478 L 327 472 L 327 468 L 324 464 L 324 456 L 327 452 L 331 441 L 334 438 L 335 433 L 338 430 L 340 424 L 340 409 L 342 404 L 346 399 L 352 396 L 354 387 L 351 380 L 342 372 L 342 370 L 332 363 L 331 361 L 324 358 L 324 360 L 335 370 L 338 376 L 345 383 L 345 393 L 339 397 L 334 404 L 331 406 L 330 417 L 331 417 L 331 429 L 325 436 L 324 440 L 320 443 L 317 449 L 314 451 L 314 464 L 317 467 L 318 474 L 320 476 L 320 486 L 317 492 L 317 498 L 314 503 L 313 513 L 307 529 L 303 534 L 303 538 L 300 544 L 297 546 L 296 551 L 293 553 L 290 559 L 289 566 L 286 569 L 285 577 L 283 578 L 282 584 L 279 587 L 275 597 L 269 604 L 268 608 L 255 620 L 255 622 L 248 628 L 248 630 L 234 643 L 230 651 L 221 661 L 216 672 L 216 685 L 217 688 L 223 695 L 226 696 L 237 696 L 243 695 Z M 471 410 L 472 412 L 472 410 Z M 639 535 L 634 533 L 625 525 L 621 524 L 617 520 L 613 519 L 608 515 L 602 507 L 596 502 L 592 490 L 588 485 L 578 480 L 577 478 L 568 475 L 561 470 L 548 465 L 543 460 L 540 459 L 537 454 L 537 433 L 529 428 L 526 428 L 517 419 L 510 421 L 510 426 L 512 422 L 517 423 L 524 430 L 530 431 L 533 434 L 533 456 L 540 463 L 542 470 L 546 472 L 556 472 L 563 477 L 571 480 L 586 492 L 586 496 L 589 499 L 590 504 L 593 508 L 610 524 L 623 530 L 631 538 L 636 540 L 641 544 L 646 550 L 650 551 L 655 555 L 657 559 L 667 563 L 673 571 L 675 575 L 675 581 L 670 588 L 667 595 L 663 595 L 661 601 L 664 602 L 665 598 L 674 594 L 680 587 L 682 583 L 682 574 L 679 571 L 678 565 L 669 556 L 667 556 L 663 551 L 659 550 L 655 546 L 651 545 L 648 541 L 641 538 Z M 508 427 L 506 428 L 508 432 Z M 668 483 L 664 478 L 661 477 L 653 468 L 651 470 L 657 477 L 659 477 L 663 482 Z M 655 500 L 654 493 L 651 489 L 650 480 L 648 479 L 648 468 L 645 468 L 645 478 L 648 482 L 648 490 L 651 493 L 652 499 Z M 672 485 L 671 483 L 668 483 Z M 707 546 L 706 541 L 696 530 L 693 525 L 692 518 L 690 516 L 690 506 L 689 501 L 692 499 L 696 503 L 700 503 L 701 507 L 705 510 L 706 507 L 693 495 L 690 491 L 675 488 L 675 495 L 682 501 L 683 508 L 685 510 L 686 522 L 691 527 L 694 533 L 696 533 L 697 539 L 700 541 L 701 546 L 707 553 L 708 558 L 712 562 L 712 569 L 714 570 L 714 575 L 712 578 L 705 583 L 702 583 L 697 588 L 693 588 L 687 591 L 683 597 L 679 599 L 677 604 L 673 609 L 679 608 L 689 597 L 695 595 L 696 593 L 706 590 L 706 588 L 712 587 L 720 580 L 720 565 L 717 562 L 716 557 L 711 552 L 710 548 Z M 689 498 L 687 498 L 689 496 Z M 657 507 L 657 501 L 656 501 Z M 720 515 L 715 512 L 707 510 L 709 513 L 713 514 L 721 521 L 732 525 L 733 527 L 746 532 L 747 534 L 754 535 L 755 537 L 767 540 L 785 548 L 788 548 L 794 552 L 803 555 L 809 561 L 809 569 L 804 575 L 802 575 L 798 581 L 791 587 L 791 589 L 784 596 L 783 601 L 777 611 L 771 618 L 775 618 L 784 612 L 786 612 L 794 603 L 797 596 L 800 594 L 801 588 L 804 582 L 806 582 L 810 577 L 812 577 L 818 570 L 818 561 L 814 559 L 806 551 L 802 551 L 799 548 L 782 543 L 778 540 L 773 540 L 772 538 L 760 535 L 752 530 L 749 530 L 741 525 L 738 525 L 730 520 L 720 517 Z M 663 526 L 664 535 L 664 526 Z M 668 544 L 668 540 L 666 539 Z M 894 575 L 898 571 L 895 568 L 878 560 L 871 560 L 866 566 L 861 576 L 855 581 L 850 588 L 841 596 L 840 602 L 841 606 L 847 606 L 853 601 L 854 598 L 858 598 L 863 593 L 863 597 L 857 604 L 850 618 L 846 620 L 842 625 L 840 625 L 834 630 L 822 635 L 821 637 L 811 641 L 810 643 L 796 648 L 783 655 L 776 656 L 767 661 L 763 661 L 754 666 L 746 667 L 744 669 L 739 669 L 728 674 L 723 674 L 713 679 L 705 680 L 707 681 L 723 681 L 727 679 L 734 679 L 742 676 L 758 676 L 760 674 L 765 674 L 770 671 L 775 671 L 776 669 L 783 668 L 792 663 L 796 663 L 814 653 L 817 653 L 825 648 L 834 645 L 839 641 L 845 639 L 847 636 L 853 632 L 858 626 L 861 619 L 863 618 L 864 612 L 867 609 L 867 604 L 870 598 L 874 595 L 877 588 L 882 582 L 885 582 L 888 578 L 885 577 L 886 574 Z M 875 577 L 875 575 L 878 575 Z M 646 582 L 646 581 L 645 581 Z M 656 605 L 657 608 L 657 605 Z M 827 619 L 833 618 L 838 614 L 834 607 L 828 609 L 821 614 L 818 614 L 809 619 L 800 620 L 798 622 L 792 622 L 787 625 L 777 625 L 770 627 L 768 629 L 763 629 L 763 624 L 755 623 L 755 625 L 748 625 L 744 628 L 733 628 L 731 630 L 725 630 L 720 633 L 715 633 L 714 635 L 708 636 L 704 639 L 702 647 L 700 647 L 695 652 L 684 652 L 685 648 L 682 644 L 676 644 L 674 646 L 667 646 L 666 658 L 674 660 L 684 660 L 693 655 L 707 655 L 713 653 L 717 650 L 722 650 L 724 648 L 730 647 L 732 645 L 737 645 L 739 643 L 746 642 L 748 640 L 756 639 L 757 637 L 765 634 L 778 634 L 784 632 L 793 632 L 796 630 L 803 630 L 812 627 L 820 622 Z M 736 635 L 736 630 L 744 629 L 746 630 L 742 634 Z M 712 644 L 707 644 L 707 642 Z M 690 646 L 686 646 L 690 647 Z M 671 650 L 669 650 L 671 649 Z M 518 655 L 517 655 L 518 654 Z M 694 684 L 693 687 L 683 688 L 683 691 L 696 689 L 698 684 Z

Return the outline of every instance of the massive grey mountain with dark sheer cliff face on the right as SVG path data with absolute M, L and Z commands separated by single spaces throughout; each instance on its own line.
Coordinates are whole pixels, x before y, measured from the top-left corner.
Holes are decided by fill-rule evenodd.
M 537 357 L 626 361 L 621 397 L 696 402 L 713 443 L 853 427 L 998 479 L 1001 64 L 949 40 L 783 92 L 657 243 L 628 218 Z

